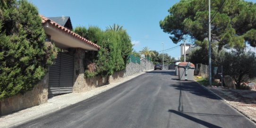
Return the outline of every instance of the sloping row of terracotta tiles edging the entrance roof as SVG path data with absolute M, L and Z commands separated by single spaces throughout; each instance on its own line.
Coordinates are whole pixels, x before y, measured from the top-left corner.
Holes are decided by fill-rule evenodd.
M 89 44 L 89 45 L 92 45 L 93 47 L 96 47 L 97 49 L 100 49 L 100 48 L 101 48 L 101 47 L 98 46 L 97 44 L 92 43 L 91 41 L 88 41 L 87 39 L 85 39 L 84 37 L 80 36 L 79 34 L 76 34 L 76 33 L 72 32 L 72 31 L 70 31 L 70 30 L 67 29 L 66 27 L 59 25 L 58 23 L 52 21 L 51 19 L 49 19 L 49 18 L 47 18 L 47 17 L 44 17 L 44 16 L 42 16 L 42 15 L 40 15 L 40 17 L 42 18 L 42 23 L 43 23 L 43 24 L 46 23 L 46 22 L 49 22 L 49 23 L 51 23 L 51 25 L 56 26 L 56 27 L 58 27 L 59 29 L 61 29 L 62 31 L 64 31 L 64 32 L 66 32 L 66 33 L 68 33 L 68 34 L 73 35 L 75 38 L 77 38 L 77 39 L 83 41 L 84 43 Z

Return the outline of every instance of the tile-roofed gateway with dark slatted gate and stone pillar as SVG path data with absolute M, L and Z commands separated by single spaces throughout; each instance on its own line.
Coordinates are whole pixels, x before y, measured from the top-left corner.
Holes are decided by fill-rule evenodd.
M 100 46 L 73 32 L 70 17 L 40 17 L 47 34 L 46 41 L 62 51 L 49 68 L 48 97 L 79 92 L 85 85 L 83 63 L 86 51 L 98 51 Z

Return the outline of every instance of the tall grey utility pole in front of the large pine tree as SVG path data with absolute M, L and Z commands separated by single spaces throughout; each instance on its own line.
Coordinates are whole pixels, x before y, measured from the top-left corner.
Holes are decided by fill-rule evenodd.
M 212 86 L 212 53 L 211 53 L 211 0 L 209 0 L 209 85 Z

